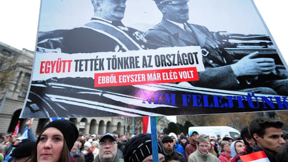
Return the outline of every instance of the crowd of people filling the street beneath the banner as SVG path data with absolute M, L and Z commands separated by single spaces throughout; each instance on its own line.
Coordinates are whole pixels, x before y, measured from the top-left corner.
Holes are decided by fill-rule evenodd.
M 5 134 L 0 162 L 152 162 L 151 134 L 118 131 L 82 134 L 69 120 L 55 120 L 35 136 L 28 121 L 28 138 Z M 281 121 L 256 118 L 241 136 L 211 137 L 191 130 L 187 135 L 158 134 L 159 162 L 242 162 L 241 157 L 264 151 L 270 162 L 287 162 L 288 131 Z

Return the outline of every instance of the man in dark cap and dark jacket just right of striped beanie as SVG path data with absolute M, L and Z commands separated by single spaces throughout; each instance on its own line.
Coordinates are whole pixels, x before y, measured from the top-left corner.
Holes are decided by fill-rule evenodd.
M 169 162 L 170 160 L 185 162 L 185 157 L 183 154 L 177 152 L 174 147 L 174 139 L 172 139 L 170 136 L 164 136 L 162 139 L 162 144 L 165 149 L 165 162 Z

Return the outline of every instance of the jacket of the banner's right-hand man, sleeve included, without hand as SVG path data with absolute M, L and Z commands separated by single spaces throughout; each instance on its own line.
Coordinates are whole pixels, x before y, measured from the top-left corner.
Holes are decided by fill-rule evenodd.
M 201 46 L 203 53 L 204 72 L 198 72 L 199 81 L 191 82 L 193 86 L 239 90 L 243 87 L 239 84 L 230 64 L 234 63 L 234 58 L 220 49 L 220 44 L 211 32 L 204 26 L 187 24 L 192 33 L 188 33 L 179 26 L 163 19 L 161 23 L 145 33 L 150 48 L 159 47 L 183 47 Z M 209 53 L 207 53 L 209 52 Z

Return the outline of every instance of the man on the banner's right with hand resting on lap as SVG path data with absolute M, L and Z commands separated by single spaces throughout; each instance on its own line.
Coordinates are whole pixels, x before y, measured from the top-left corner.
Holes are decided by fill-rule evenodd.
M 155 49 L 200 46 L 205 71 L 198 72 L 199 81 L 190 82 L 193 86 L 287 95 L 288 80 L 274 80 L 278 76 L 273 58 L 252 59 L 252 56 L 248 55 L 237 61 L 221 47 L 215 35 L 206 27 L 187 22 L 189 0 L 154 1 L 163 18 L 158 25 L 145 33 L 145 39 L 148 44 L 154 45 Z M 273 75 L 270 81 L 267 81 L 268 74 Z M 249 79 L 246 79 L 247 76 Z M 242 79 L 243 77 L 245 79 Z

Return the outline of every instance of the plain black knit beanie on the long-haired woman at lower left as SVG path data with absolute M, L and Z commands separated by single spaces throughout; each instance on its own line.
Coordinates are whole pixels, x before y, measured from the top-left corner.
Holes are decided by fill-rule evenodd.
M 69 120 L 54 120 L 51 123 L 47 124 L 43 130 L 48 127 L 54 127 L 60 130 L 64 136 L 64 139 L 68 145 L 69 150 L 72 149 L 74 142 L 79 136 L 79 132 L 74 123 Z

